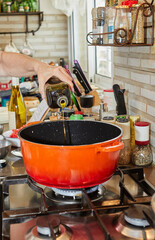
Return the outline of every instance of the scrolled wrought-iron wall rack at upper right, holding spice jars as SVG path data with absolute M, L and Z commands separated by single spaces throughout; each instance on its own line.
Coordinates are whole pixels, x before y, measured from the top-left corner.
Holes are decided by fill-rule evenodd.
M 154 6 L 153 1 L 148 3 L 145 0 L 145 3 L 140 4 L 137 8 L 134 27 L 130 33 L 127 32 L 124 28 L 117 28 L 113 32 L 106 33 L 93 33 L 89 32 L 86 36 L 87 42 L 89 46 L 114 46 L 114 47 L 122 47 L 122 46 L 152 46 L 154 44 Z M 131 12 L 132 7 L 129 7 L 129 11 Z M 144 42 L 143 43 L 133 43 L 134 34 L 136 32 L 136 26 L 138 22 L 138 16 L 140 11 L 143 12 L 143 17 L 145 18 L 144 22 Z M 150 19 L 151 18 L 151 19 Z M 149 20 L 149 23 L 147 21 Z M 149 34 L 148 34 L 149 31 Z M 113 43 L 104 43 L 104 38 L 107 38 L 109 34 L 113 34 Z M 149 36 L 148 36 L 149 35 Z M 103 36 L 103 44 L 93 43 L 93 37 Z M 122 39 L 122 41 L 118 41 L 118 38 Z

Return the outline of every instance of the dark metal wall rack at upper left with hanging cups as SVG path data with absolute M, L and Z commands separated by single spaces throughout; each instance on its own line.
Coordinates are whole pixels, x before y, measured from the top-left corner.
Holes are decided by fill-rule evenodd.
M 24 16 L 25 17 L 25 29 L 21 32 L 19 31 L 5 31 L 5 32 L 1 32 L 0 34 L 21 34 L 21 33 L 32 33 L 33 35 L 35 34 L 35 32 L 37 32 L 39 30 L 39 28 L 41 27 L 41 23 L 43 21 L 43 12 L 16 12 L 16 13 L 0 13 L 0 17 L 3 16 Z M 37 16 L 38 17 L 38 24 L 36 29 L 33 30 L 29 30 L 29 26 L 28 26 L 28 20 L 31 18 L 31 16 Z M 6 26 L 7 29 L 7 26 Z

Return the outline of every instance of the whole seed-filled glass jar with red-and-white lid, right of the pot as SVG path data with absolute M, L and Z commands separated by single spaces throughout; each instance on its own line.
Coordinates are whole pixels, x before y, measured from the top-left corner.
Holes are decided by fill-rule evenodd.
M 135 147 L 132 153 L 132 162 L 137 166 L 148 166 L 153 161 L 152 150 L 149 144 L 149 123 L 135 123 Z

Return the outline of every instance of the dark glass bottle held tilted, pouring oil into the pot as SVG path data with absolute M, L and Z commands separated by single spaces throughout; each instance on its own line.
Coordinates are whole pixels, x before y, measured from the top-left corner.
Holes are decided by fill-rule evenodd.
M 45 84 L 46 101 L 50 108 L 65 108 L 71 104 L 69 85 L 58 78 L 50 78 Z

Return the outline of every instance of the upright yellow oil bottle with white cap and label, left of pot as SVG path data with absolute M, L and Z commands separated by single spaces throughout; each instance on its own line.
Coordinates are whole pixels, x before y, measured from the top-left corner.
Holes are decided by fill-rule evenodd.
M 8 105 L 9 129 L 18 129 L 26 124 L 26 109 L 19 89 L 19 79 L 12 78 L 12 91 Z

